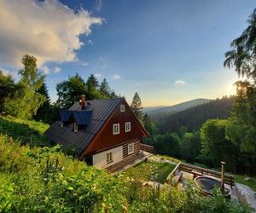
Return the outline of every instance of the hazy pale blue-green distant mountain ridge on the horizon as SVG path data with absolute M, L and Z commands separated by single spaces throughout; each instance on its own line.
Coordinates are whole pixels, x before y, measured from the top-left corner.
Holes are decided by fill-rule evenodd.
M 159 119 L 159 118 L 166 117 L 167 115 L 181 112 L 181 111 L 189 109 L 191 107 L 196 107 L 196 106 L 208 103 L 210 101 L 212 101 L 212 100 L 199 98 L 199 99 L 195 99 L 195 100 L 191 100 L 191 101 L 185 101 L 183 103 L 179 103 L 179 104 L 176 104 L 176 105 L 173 105 L 170 107 L 159 107 L 159 108 L 155 108 L 153 110 L 148 110 L 147 113 L 150 116 L 150 118 Z

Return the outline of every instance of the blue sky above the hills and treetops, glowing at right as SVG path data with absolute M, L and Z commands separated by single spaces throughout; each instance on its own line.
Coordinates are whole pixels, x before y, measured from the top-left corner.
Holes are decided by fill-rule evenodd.
M 49 1 L 49 4 L 52 2 L 55 1 Z M 84 9 L 90 12 L 87 20 L 93 24 L 90 24 L 90 32 L 68 26 L 73 27 L 71 31 L 77 34 L 81 31 L 79 42 L 84 43 L 80 47 L 78 43 L 72 43 L 69 38 L 73 34 L 61 38 L 63 43 L 68 39 L 69 45 L 72 43 L 73 57 L 53 55 L 51 60 L 45 56 L 48 49 L 42 50 L 45 55 L 40 55 L 40 49 L 35 52 L 43 61 L 40 69 L 48 73 L 46 82 L 51 99 L 56 99 L 56 83 L 75 72 L 84 79 L 93 73 L 99 81 L 107 78 L 112 89 L 118 95 L 125 95 L 128 102 L 137 91 L 144 107 L 168 106 L 195 98 L 214 99 L 233 94 L 235 89 L 232 85 L 237 77 L 234 71 L 224 69 L 224 52 L 247 27 L 247 18 L 256 6 L 255 1 L 249 0 L 62 0 L 55 7 L 65 12 L 65 5 L 70 9 L 68 13 L 73 11 L 67 20 Z M 47 10 L 45 5 L 41 7 Z M 48 14 L 53 13 L 50 9 L 47 11 Z M 92 17 L 98 20 L 91 21 Z M 81 21 L 74 23 L 82 25 Z M 56 23 L 58 27 L 62 25 Z M 38 29 L 43 32 L 51 30 L 44 23 L 38 28 L 40 24 L 40 21 L 35 24 L 37 32 Z M 65 34 L 68 27 L 58 35 Z M 67 48 L 63 43 L 60 46 Z M 42 46 L 47 45 L 51 47 L 53 44 L 42 43 Z M 26 47 L 25 44 L 23 46 Z M 35 50 L 29 51 L 33 54 Z M 23 53 L 23 50 L 20 52 Z M 18 65 L 2 60 L 0 67 L 15 73 Z

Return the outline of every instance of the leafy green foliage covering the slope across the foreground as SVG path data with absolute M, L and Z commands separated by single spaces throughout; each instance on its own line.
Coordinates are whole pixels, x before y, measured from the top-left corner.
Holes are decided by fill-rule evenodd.
M 250 212 L 220 193 L 194 187 L 162 191 L 68 158 L 60 147 L 29 148 L 0 135 L 3 212 Z

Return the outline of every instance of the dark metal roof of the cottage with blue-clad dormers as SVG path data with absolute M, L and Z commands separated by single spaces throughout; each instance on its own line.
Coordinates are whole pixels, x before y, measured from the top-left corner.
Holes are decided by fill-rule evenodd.
M 67 119 L 68 113 L 73 113 L 77 124 L 82 125 L 79 131 L 73 131 L 73 124 L 66 124 L 61 128 L 60 121 L 56 121 L 44 134 L 49 137 L 50 141 L 61 144 L 63 148 L 75 145 L 80 155 L 88 147 L 90 141 L 94 139 L 99 130 L 102 129 L 102 126 L 112 115 L 121 100 L 122 98 L 86 101 L 86 106 L 83 110 L 79 102 L 76 102 L 68 110 L 63 111 L 62 115 Z M 62 120 L 64 118 L 61 118 L 61 121 L 64 121 Z

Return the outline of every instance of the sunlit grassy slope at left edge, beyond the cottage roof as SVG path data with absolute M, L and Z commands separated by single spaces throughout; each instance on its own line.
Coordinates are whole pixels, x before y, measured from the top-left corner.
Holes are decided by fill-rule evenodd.
M 49 128 L 49 124 L 34 120 L 25 120 L 11 116 L 0 116 L 0 133 L 8 135 L 21 144 L 32 141 L 33 144 L 48 144 L 47 138 L 43 135 Z

